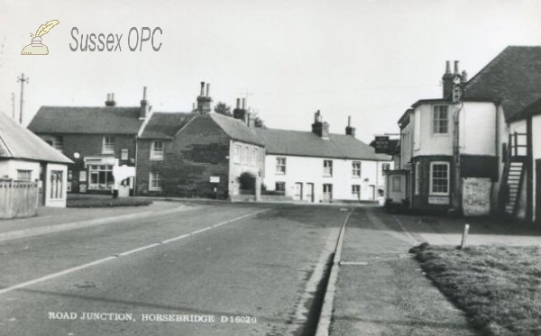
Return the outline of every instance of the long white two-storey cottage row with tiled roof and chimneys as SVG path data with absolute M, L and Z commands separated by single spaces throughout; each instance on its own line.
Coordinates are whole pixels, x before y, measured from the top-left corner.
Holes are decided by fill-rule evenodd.
M 329 132 L 318 111 L 312 132 L 256 129 L 266 146 L 264 185 L 274 194 L 306 202 L 375 201 L 383 191 L 387 155 L 345 134 Z

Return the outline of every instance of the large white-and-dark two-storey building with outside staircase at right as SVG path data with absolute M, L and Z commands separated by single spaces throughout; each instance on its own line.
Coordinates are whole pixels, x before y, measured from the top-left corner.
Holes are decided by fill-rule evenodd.
M 539 47 L 508 47 L 471 80 L 459 73 L 458 62 L 454 73 L 447 62 L 443 97 L 419 100 L 399 119 L 400 166 L 388 176 L 388 186 L 399 193 L 392 201 L 413 209 L 531 218 L 532 206 L 520 205 L 533 195 L 531 183 L 529 192 L 521 188 L 532 177 L 522 163 L 531 143 L 527 122 L 510 122 L 541 96 L 539 66 Z

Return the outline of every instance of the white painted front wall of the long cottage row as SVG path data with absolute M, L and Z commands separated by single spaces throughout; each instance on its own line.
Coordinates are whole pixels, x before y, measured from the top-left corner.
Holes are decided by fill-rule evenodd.
M 286 174 L 277 174 L 276 158 L 286 158 Z M 324 160 L 328 158 L 307 158 L 285 155 L 267 155 L 265 158 L 265 177 L 263 183 L 267 190 L 275 190 L 276 182 L 285 182 L 286 195 L 295 195 L 296 183 L 303 184 L 303 200 L 307 201 L 307 184 L 314 184 L 314 202 L 323 200 L 323 185 L 333 185 L 333 199 L 355 200 L 352 186 L 361 186 L 361 200 L 376 200 L 378 188 L 385 189 L 385 179 L 381 172 L 382 163 L 391 161 L 367 161 L 355 159 L 331 159 L 333 176 L 324 177 Z M 361 177 L 353 177 L 353 161 L 361 161 Z M 374 195 L 375 193 L 375 195 Z

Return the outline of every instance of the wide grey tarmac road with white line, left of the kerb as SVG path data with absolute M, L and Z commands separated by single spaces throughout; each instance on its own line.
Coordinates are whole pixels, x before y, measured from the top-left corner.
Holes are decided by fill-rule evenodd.
M 344 209 L 186 210 L 0 241 L 0 335 L 312 332 Z

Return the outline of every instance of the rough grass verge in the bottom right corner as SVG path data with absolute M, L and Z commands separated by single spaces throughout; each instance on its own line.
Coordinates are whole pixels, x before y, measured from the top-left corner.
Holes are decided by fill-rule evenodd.
M 416 252 L 426 275 L 483 335 L 541 335 L 541 247 Z

